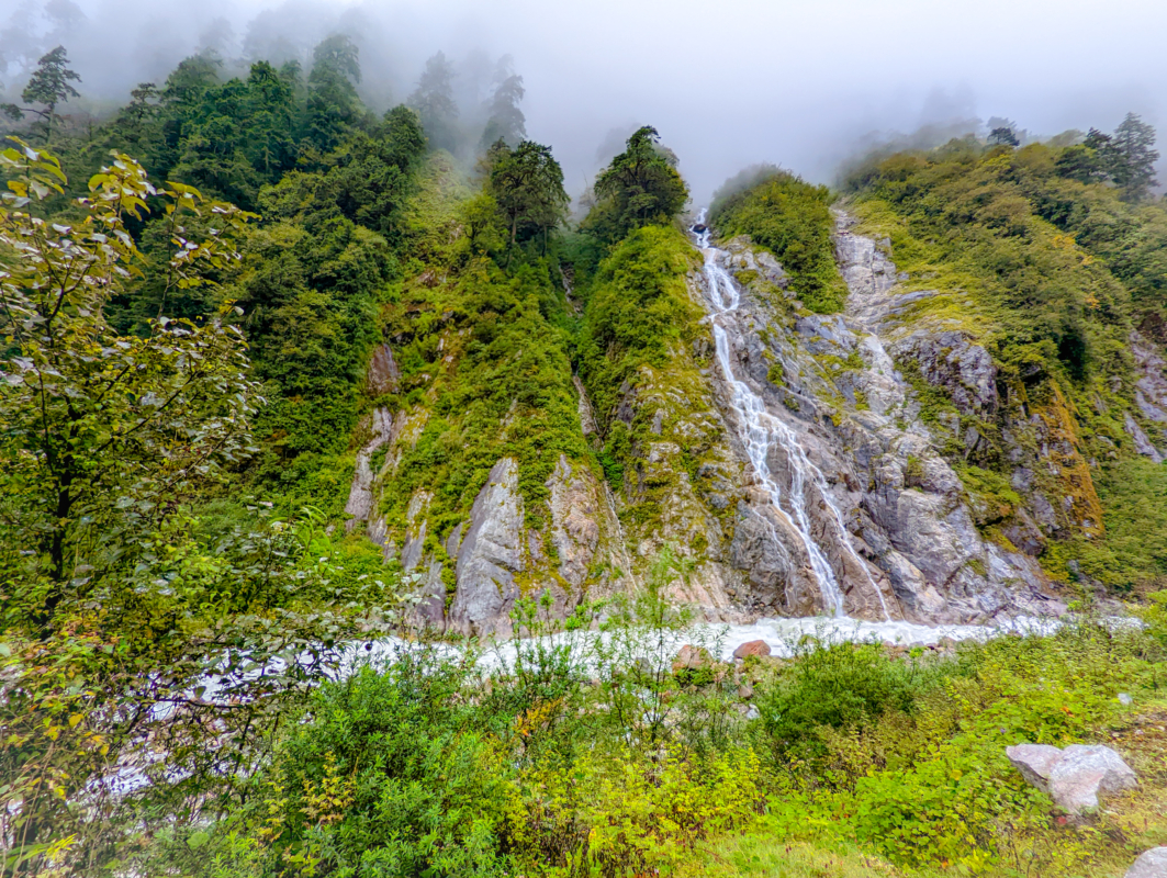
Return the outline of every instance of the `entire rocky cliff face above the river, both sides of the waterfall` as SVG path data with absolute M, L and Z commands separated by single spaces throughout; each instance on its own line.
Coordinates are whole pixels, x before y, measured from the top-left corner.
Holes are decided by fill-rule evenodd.
M 1058 612 L 1034 556 L 1046 539 L 1100 514 L 1088 473 L 1077 494 L 1055 496 L 1086 466 L 1064 400 L 1002 380 L 959 325 L 916 318 L 914 305 L 929 293 L 903 290 L 887 250 L 840 216 L 836 251 L 850 297 L 836 315 L 801 308 L 782 267 L 748 240 L 717 251 L 740 302 L 707 319 L 726 331 L 734 378 L 719 367 L 712 332 L 671 351 L 666 367 L 644 367 L 614 413 L 638 437 L 617 491 L 594 462 L 560 456 L 547 499 L 526 508 L 522 473 L 504 457 L 446 532 L 433 531 L 426 491 L 405 521 L 384 522 L 378 486 L 393 478 L 426 415 L 378 409 L 357 456 L 350 527 L 363 522 L 385 556 L 414 574 L 419 621 L 452 633 L 509 631 L 524 595 L 546 597 L 561 618 L 585 597 L 630 588 L 665 545 L 690 568 L 675 597 L 712 619 L 830 611 L 815 547 L 854 617 L 971 623 Z M 711 307 L 707 278 L 693 272 L 689 288 Z M 1147 346 L 1140 405 L 1163 423 L 1161 443 L 1167 379 L 1153 357 Z M 378 351 L 370 387 L 391 387 L 394 372 L 392 351 Z M 750 461 L 756 436 L 734 381 L 764 409 L 752 416 L 769 424 L 769 483 Z M 595 436 L 575 384 L 581 434 Z M 953 469 L 973 465 L 990 438 L 1011 462 L 1007 512 Z

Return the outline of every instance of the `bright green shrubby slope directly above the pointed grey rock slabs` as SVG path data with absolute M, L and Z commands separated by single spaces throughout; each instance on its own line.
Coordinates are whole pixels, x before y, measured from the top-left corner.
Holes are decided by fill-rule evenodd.
M 586 454 L 566 333 L 548 321 L 561 308 L 547 262 L 508 278 L 478 258 L 447 283 L 411 285 L 386 309 L 399 400 L 424 422 L 385 484 L 389 520 L 424 489 L 434 492 L 431 527 L 443 536 L 503 457 L 519 465 L 527 514 L 540 514 L 559 456 Z

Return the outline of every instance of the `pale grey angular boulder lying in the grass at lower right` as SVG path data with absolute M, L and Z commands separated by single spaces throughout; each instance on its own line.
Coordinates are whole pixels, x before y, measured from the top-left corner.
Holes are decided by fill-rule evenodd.
M 1139 785 L 1123 757 L 1102 744 L 1071 744 L 1064 750 L 1019 744 L 1007 747 L 1005 753 L 1028 784 L 1048 793 L 1067 814 L 1093 810 L 1102 796 L 1117 795 Z

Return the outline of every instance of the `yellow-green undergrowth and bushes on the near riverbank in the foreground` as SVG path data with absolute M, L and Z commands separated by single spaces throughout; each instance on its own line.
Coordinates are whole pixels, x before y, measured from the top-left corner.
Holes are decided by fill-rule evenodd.
M 1167 764 L 1130 731 L 1167 705 L 1158 611 L 1141 630 L 1083 619 L 946 651 L 804 638 L 789 660 L 736 667 L 698 644 L 677 663 L 692 630 L 662 588 L 680 575 L 658 559 L 644 596 L 609 609 L 608 639 L 585 631 L 586 607 L 512 661 L 403 645 L 323 687 L 246 806 L 163 833 L 151 863 L 218 878 L 1077 878 L 1167 838 L 1147 810 Z M 538 631 L 538 606 L 519 613 Z M 738 708 L 742 687 L 760 718 Z M 1079 823 L 1005 758 L 1099 740 L 1142 788 Z

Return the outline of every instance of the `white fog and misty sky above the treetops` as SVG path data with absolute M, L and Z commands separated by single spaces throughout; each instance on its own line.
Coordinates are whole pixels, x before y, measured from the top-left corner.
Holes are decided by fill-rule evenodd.
M 331 33 L 361 47 L 376 110 L 442 50 L 473 117 L 510 55 L 527 134 L 553 147 L 572 192 L 644 124 L 698 203 L 757 162 L 831 182 L 857 150 L 921 126 L 1007 117 L 1053 135 L 1133 111 L 1167 129 L 1167 3 L 1153 0 L 0 0 L 0 82 L 12 93 L 60 42 L 88 101 L 64 112 L 100 112 L 198 48 L 306 59 Z

